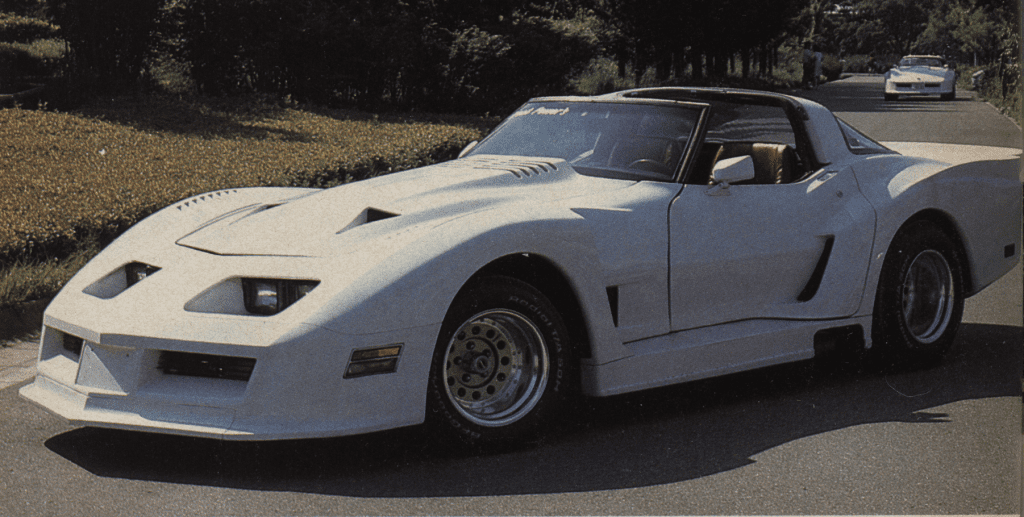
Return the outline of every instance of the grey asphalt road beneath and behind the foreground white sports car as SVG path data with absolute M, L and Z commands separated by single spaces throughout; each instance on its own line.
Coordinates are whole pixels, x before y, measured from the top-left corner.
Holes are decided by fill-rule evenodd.
M 880 140 L 1021 146 L 969 99 L 802 92 Z M 970 299 L 948 360 L 780 368 L 591 401 L 525 450 L 441 455 L 417 429 L 221 443 L 73 429 L 0 390 L 0 515 L 1015 514 L 1022 276 Z

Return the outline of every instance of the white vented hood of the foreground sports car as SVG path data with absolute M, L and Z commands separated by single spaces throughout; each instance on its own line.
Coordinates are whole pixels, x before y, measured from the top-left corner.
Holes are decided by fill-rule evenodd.
M 413 225 L 500 207 L 550 204 L 623 188 L 635 181 L 595 178 L 561 160 L 472 157 L 388 174 L 223 214 L 178 245 L 218 255 L 317 257 L 343 236 L 372 239 Z

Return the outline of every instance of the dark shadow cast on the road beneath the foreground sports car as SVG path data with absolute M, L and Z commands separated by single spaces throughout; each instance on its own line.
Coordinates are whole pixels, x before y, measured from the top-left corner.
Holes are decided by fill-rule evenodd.
M 947 360 L 898 374 L 804 362 L 588 400 L 574 424 L 516 451 L 440 451 L 420 428 L 260 443 L 82 428 L 46 441 L 97 476 L 359 498 L 537 494 L 653 486 L 755 463 L 863 424 L 941 426 L 940 406 L 1020 396 L 1020 327 L 965 325 Z

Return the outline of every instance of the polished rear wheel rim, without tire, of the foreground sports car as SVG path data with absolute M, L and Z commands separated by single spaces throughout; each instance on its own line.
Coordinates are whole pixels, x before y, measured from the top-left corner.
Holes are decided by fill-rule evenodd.
M 938 340 L 953 312 L 953 274 L 941 253 L 925 250 L 910 262 L 902 286 L 903 322 L 921 343 Z

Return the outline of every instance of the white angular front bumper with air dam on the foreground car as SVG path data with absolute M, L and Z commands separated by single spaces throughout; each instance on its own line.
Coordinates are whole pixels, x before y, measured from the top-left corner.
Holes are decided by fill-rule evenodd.
M 20 394 L 73 425 L 232 440 L 359 434 L 423 421 L 434 343 L 415 336 L 436 331 L 397 339 L 307 326 L 240 345 L 97 335 L 47 316 L 35 381 Z M 384 342 L 403 343 L 396 372 L 344 379 L 351 350 Z

